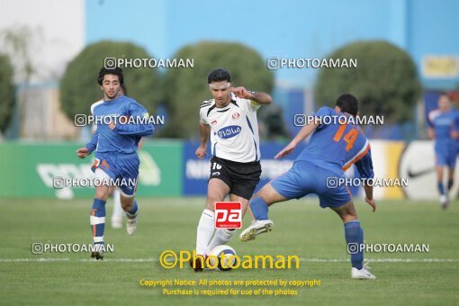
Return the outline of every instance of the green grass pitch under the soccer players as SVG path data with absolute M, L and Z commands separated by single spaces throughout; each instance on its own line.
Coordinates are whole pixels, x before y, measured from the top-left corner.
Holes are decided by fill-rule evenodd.
M 380 201 L 374 213 L 364 202 L 357 202 L 365 243 L 429 246 L 428 253 L 366 253 L 365 260 L 370 260 L 371 271 L 377 276 L 375 281 L 350 279 L 341 221 L 333 211 L 320 209 L 314 198 L 275 204 L 270 210 L 270 218 L 275 221 L 273 232 L 257 237 L 256 241 L 242 243 L 234 237 L 229 242 L 239 256 L 297 255 L 302 258 L 299 269 L 238 269 L 227 273 L 208 270 L 196 274 L 188 266 L 184 269 L 160 266 L 157 258 L 162 251 L 193 249 L 202 198 L 139 199 L 139 229 L 134 236 L 106 224 L 105 241 L 113 244 L 114 252 L 106 254 L 103 262 L 88 260 L 87 253 L 31 254 L 32 242 L 90 243 L 91 203 L 91 200 L 0 200 L 1 304 L 459 304 L 459 202 L 442 211 L 437 202 Z M 111 212 L 112 200 L 109 200 L 107 221 Z M 249 221 L 247 216 L 244 227 Z M 295 296 L 188 297 L 164 295 L 161 288 L 141 286 L 141 279 L 316 279 L 320 280 L 320 286 L 287 287 L 297 291 Z M 176 288 L 191 289 L 180 286 L 169 289 Z M 266 287 L 193 287 L 198 291 L 230 288 Z

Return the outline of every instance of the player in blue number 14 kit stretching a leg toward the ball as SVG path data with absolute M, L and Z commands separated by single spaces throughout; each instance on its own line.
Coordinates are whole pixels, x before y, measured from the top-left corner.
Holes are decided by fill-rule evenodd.
M 239 238 L 242 241 L 253 240 L 258 234 L 273 229 L 274 223 L 268 219 L 268 206 L 275 202 L 299 199 L 308 193 L 316 193 L 320 199 L 320 207 L 329 207 L 343 220 L 347 249 L 351 254 L 351 277 L 376 278 L 363 265 L 364 254 L 360 246 L 364 243 L 364 230 L 357 219 L 351 194 L 346 184 L 338 184 L 338 180 L 345 178 L 344 168 L 354 163 L 361 178 L 374 178 L 368 139 L 358 125 L 348 120 L 349 116 L 355 117 L 357 112 L 356 97 L 352 94 L 342 94 L 338 97 L 335 109 L 321 107 L 314 120 L 305 125 L 275 156 L 281 158 L 291 154 L 297 144 L 312 133 L 309 144 L 296 158 L 292 168 L 263 186 L 250 200 L 249 206 L 254 220 L 241 232 Z M 324 124 L 326 117 L 331 119 L 330 124 Z M 339 117 L 343 117 L 342 120 L 333 119 Z M 364 183 L 364 190 L 365 202 L 375 211 L 373 185 Z

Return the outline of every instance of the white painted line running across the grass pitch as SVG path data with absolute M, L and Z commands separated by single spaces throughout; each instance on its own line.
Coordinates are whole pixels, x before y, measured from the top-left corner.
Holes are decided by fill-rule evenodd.
M 94 259 L 78 259 L 70 260 L 69 258 L 0 258 L 0 263 L 44 263 L 44 262 L 100 262 Z M 113 263 L 154 263 L 158 262 L 158 258 L 105 258 L 104 262 Z M 300 258 L 300 261 L 307 263 L 347 263 L 349 259 L 325 259 L 325 258 Z M 365 262 L 370 263 L 459 263 L 459 259 L 447 258 L 381 258 L 381 259 L 365 259 Z

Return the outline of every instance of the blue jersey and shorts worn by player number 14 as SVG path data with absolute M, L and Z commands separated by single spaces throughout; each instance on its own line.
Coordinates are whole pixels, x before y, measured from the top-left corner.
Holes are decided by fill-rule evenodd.
M 271 181 L 271 185 L 286 199 L 316 193 L 320 207 L 338 207 L 352 199 L 347 186 L 337 184 L 338 180 L 344 179 L 347 167 L 356 164 L 362 178 L 374 177 L 370 144 L 358 125 L 339 124 L 339 121 L 324 124 L 327 116 L 346 116 L 349 119 L 347 113 L 322 107 L 316 116 L 322 123 L 312 134 L 309 144 L 292 168 Z

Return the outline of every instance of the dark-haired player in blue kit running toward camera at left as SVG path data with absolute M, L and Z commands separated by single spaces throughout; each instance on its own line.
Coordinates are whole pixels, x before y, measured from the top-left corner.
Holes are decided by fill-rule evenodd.
M 111 184 L 120 188 L 121 207 L 128 217 L 128 234 L 133 235 L 137 229 L 139 206 L 134 199 L 139 176 L 137 148 L 143 136 L 153 133 L 154 126 L 145 120 L 148 112 L 142 105 L 121 94 L 124 83 L 121 68 L 101 68 L 97 82 L 103 91 L 103 101 L 91 105 L 97 130 L 85 148 L 76 150 L 76 156 L 85 158 L 95 150 L 95 161 L 91 167 L 94 175 L 99 182 L 110 183 L 95 186 L 90 215 L 94 239 L 91 257 L 103 259 L 105 203 Z

